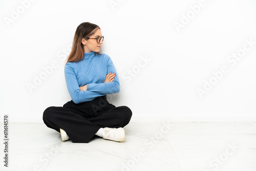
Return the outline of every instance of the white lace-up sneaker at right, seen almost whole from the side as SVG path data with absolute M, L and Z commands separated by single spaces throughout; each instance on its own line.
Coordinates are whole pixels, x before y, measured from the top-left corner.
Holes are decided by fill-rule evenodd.
M 110 128 L 110 127 L 104 127 L 103 128 L 103 134 L 104 139 L 112 140 L 112 141 L 118 141 L 121 142 L 125 138 L 124 129 L 122 127 L 116 128 Z

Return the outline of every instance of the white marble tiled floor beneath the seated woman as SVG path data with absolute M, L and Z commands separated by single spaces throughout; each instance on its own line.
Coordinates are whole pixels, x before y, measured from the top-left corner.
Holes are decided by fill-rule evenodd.
M 123 142 L 62 142 L 44 123 L 10 123 L 9 130 L 9 167 L 2 143 L 0 170 L 256 170 L 254 122 L 130 122 Z

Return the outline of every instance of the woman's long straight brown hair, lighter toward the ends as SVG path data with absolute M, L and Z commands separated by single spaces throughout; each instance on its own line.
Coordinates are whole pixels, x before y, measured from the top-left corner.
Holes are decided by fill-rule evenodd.
M 99 26 L 89 22 L 81 23 L 76 28 L 72 49 L 66 63 L 82 60 L 84 53 L 83 44 L 81 43 L 82 37 L 93 35 L 97 29 L 100 29 Z M 88 40 L 88 38 L 85 39 Z

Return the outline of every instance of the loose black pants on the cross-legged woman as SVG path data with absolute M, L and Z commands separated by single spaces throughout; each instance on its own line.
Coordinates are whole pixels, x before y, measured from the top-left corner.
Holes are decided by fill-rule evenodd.
M 42 119 L 51 129 L 64 130 L 72 142 L 88 143 L 100 127 L 124 127 L 131 117 L 130 108 L 116 107 L 104 95 L 78 104 L 71 100 L 63 107 L 51 106 Z

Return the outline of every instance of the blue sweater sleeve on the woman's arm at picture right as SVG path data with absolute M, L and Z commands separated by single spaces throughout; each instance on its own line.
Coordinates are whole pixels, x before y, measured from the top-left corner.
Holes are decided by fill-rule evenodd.
M 120 91 L 119 78 L 118 78 L 115 66 L 109 56 L 106 62 L 106 69 L 107 69 L 107 74 L 111 72 L 112 74 L 116 73 L 115 79 L 112 82 L 89 83 L 87 84 L 88 91 L 96 92 L 100 94 L 112 94 L 112 93 L 118 93 Z

